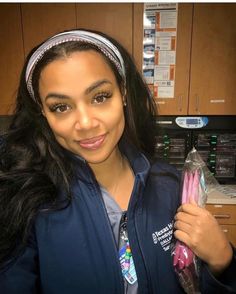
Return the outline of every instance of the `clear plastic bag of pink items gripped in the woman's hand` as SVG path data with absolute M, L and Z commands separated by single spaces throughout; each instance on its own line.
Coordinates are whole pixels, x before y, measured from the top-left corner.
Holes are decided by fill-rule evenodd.
M 207 195 L 215 190 L 219 183 L 207 168 L 197 150 L 193 148 L 186 160 L 182 172 L 181 202 L 191 199 L 204 207 Z M 175 240 L 172 245 L 173 266 L 179 281 L 187 294 L 200 293 L 198 285 L 199 259 L 183 242 Z

